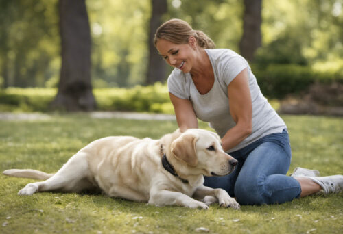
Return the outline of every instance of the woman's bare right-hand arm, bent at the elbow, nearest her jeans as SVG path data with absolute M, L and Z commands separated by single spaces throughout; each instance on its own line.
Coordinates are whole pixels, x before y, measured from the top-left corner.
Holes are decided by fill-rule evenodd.
M 236 125 L 222 138 L 224 151 L 237 146 L 252 132 L 252 101 L 248 84 L 248 68 L 242 70 L 228 85 L 228 103 Z

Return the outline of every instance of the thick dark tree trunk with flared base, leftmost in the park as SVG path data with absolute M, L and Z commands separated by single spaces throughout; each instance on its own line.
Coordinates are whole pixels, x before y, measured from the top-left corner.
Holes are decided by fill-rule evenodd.
M 53 109 L 92 111 L 91 30 L 85 0 L 60 0 L 62 68 Z

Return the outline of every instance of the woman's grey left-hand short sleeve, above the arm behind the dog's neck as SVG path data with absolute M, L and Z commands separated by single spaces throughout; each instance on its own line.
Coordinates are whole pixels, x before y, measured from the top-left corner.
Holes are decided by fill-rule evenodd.
M 189 99 L 189 84 L 184 73 L 173 70 L 167 80 L 168 91 L 180 99 Z

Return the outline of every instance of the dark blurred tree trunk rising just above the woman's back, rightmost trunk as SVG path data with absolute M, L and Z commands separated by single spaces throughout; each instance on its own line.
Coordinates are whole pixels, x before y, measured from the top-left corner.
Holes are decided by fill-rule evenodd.
M 244 0 L 243 36 L 239 42 L 241 55 L 254 60 L 255 51 L 261 47 L 262 0 Z

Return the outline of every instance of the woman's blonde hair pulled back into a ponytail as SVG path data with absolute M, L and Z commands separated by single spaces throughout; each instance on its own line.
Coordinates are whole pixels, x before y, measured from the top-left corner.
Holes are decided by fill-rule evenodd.
M 154 45 L 156 47 L 159 39 L 165 39 L 175 44 L 186 44 L 190 36 L 196 38 L 198 45 L 203 49 L 215 48 L 213 40 L 204 34 L 203 31 L 193 30 L 186 21 L 178 18 L 171 19 L 158 27 L 154 38 Z

